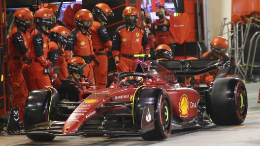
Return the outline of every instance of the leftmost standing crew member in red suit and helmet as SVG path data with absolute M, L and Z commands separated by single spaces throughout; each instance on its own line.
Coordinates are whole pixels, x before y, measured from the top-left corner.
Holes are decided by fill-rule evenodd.
M 26 8 L 15 11 L 13 22 L 9 28 L 8 52 L 10 60 L 8 70 L 10 73 L 12 87 L 13 107 L 19 107 L 19 120 L 23 122 L 24 103 L 28 96 L 26 82 L 22 73 L 22 66 L 26 59 L 29 59 L 29 32 L 32 26 L 32 12 Z

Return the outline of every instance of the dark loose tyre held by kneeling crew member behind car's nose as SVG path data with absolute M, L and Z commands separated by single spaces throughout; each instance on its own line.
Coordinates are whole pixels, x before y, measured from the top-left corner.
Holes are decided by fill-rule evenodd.
M 61 79 L 61 82 L 60 87 L 54 87 L 59 93 L 60 101 L 79 101 L 79 93 L 82 91 L 81 85 L 68 79 Z

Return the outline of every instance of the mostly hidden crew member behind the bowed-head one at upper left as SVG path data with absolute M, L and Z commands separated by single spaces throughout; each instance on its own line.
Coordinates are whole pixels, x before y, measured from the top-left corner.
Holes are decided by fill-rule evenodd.
M 46 6 L 46 8 L 52 10 L 52 12 L 57 16 L 55 26 L 61 25 L 61 26 L 64 26 L 68 29 L 67 25 L 64 22 L 58 20 L 61 13 L 59 13 L 57 15 L 58 10 L 59 10 L 59 7 L 57 5 L 49 4 L 49 5 Z M 65 79 L 68 76 L 68 71 L 67 71 L 67 62 L 65 61 L 65 58 L 64 58 L 64 50 L 61 50 L 59 52 L 59 58 L 57 60 L 56 66 L 62 67 L 61 69 L 59 69 L 60 78 Z

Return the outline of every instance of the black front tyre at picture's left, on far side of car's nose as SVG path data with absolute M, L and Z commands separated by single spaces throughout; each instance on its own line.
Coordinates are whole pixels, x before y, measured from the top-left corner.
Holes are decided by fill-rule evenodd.
M 34 90 L 28 95 L 24 107 L 25 132 L 33 130 L 34 124 L 48 121 L 51 97 L 52 92 L 49 90 Z M 51 135 L 27 135 L 27 137 L 37 142 L 49 142 L 55 138 Z

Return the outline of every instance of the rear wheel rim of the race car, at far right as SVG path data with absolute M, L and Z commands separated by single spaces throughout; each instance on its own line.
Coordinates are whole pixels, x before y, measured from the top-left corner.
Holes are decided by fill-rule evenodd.
M 239 115 L 244 117 L 247 113 L 247 97 L 241 86 L 237 90 L 236 103 Z

